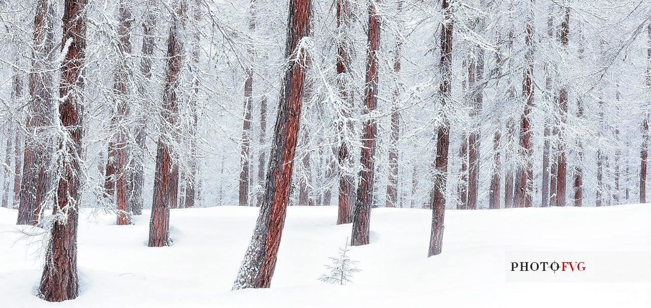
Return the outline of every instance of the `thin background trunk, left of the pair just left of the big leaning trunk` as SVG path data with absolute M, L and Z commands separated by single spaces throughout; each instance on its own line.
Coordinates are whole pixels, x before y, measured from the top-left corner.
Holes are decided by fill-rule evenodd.
M 251 16 L 249 16 L 249 31 L 255 31 L 255 0 L 251 2 Z M 247 49 L 249 61 L 253 51 Z M 242 152 L 240 153 L 240 205 L 249 204 L 249 184 L 251 182 L 251 113 L 253 112 L 253 67 L 247 66 L 244 70 L 244 123 L 242 125 Z

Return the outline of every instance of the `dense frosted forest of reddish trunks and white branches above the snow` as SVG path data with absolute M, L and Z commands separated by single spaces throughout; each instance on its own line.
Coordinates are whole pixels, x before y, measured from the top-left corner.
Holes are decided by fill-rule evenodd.
M 46 301 L 83 294 L 87 216 L 174 247 L 177 217 L 258 207 L 226 211 L 239 290 L 271 286 L 288 206 L 349 258 L 375 208 L 427 210 L 432 257 L 446 209 L 646 203 L 650 112 L 648 0 L 0 0 L 0 221 Z

